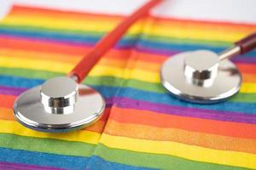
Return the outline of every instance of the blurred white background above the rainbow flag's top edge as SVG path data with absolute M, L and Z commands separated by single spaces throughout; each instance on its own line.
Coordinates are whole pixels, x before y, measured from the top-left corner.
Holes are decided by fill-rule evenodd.
M 14 3 L 106 14 L 130 14 L 146 0 L 1 0 L 0 18 Z M 196 20 L 256 23 L 255 0 L 166 0 L 154 15 Z

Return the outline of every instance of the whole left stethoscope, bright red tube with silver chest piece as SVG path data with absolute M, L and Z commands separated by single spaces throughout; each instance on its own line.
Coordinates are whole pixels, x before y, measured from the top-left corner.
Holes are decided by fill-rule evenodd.
M 68 132 L 88 127 L 103 114 L 105 100 L 95 89 L 80 84 L 91 68 L 125 31 L 161 0 L 151 0 L 125 18 L 113 31 L 96 43 L 68 77 L 55 77 L 41 86 L 26 90 L 15 100 L 14 112 L 25 127 L 43 132 Z

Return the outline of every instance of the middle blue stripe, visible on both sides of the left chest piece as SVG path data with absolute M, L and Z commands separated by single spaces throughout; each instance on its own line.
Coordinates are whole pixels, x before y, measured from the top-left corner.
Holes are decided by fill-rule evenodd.
M 28 79 L 25 77 L 9 77 L 0 76 L 0 86 L 13 87 L 13 88 L 32 88 L 33 86 L 40 85 L 44 80 Z M 148 82 L 150 83 L 150 82 Z M 105 98 L 113 98 L 114 96 L 125 97 L 130 99 L 137 99 L 148 101 L 152 103 L 165 104 L 165 105 L 178 105 L 187 108 L 198 108 L 215 111 L 234 111 L 247 114 L 256 114 L 256 105 L 253 103 L 238 103 L 225 101 L 213 105 L 199 105 L 184 102 L 172 97 L 170 94 L 159 94 L 138 90 L 136 88 L 113 88 L 105 86 L 92 86 L 96 88 Z M 120 91 L 118 94 L 117 92 Z

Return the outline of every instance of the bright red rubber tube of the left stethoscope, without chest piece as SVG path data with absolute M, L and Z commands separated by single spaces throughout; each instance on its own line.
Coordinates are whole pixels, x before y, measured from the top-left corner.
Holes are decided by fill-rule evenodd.
M 84 77 L 87 76 L 89 71 L 97 61 L 101 59 L 102 55 L 105 54 L 108 49 L 112 48 L 113 45 L 119 41 L 119 39 L 125 34 L 125 31 L 144 14 L 148 14 L 150 8 L 153 8 L 156 4 L 162 0 L 150 0 L 145 3 L 141 8 L 138 8 L 133 14 L 125 18 L 113 31 L 110 31 L 107 35 L 96 43 L 96 47 L 93 48 L 84 58 L 76 65 L 72 71 L 68 74 L 69 77 L 77 77 L 77 82 L 82 82 Z

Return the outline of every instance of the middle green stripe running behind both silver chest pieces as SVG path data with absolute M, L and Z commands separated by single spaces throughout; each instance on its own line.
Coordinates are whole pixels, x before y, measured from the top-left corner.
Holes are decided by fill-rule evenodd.
M 51 77 L 63 76 L 65 74 L 51 72 L 51 71 L 38 71 L 30 69 L 18 69 L 18 68 L 5 68 L 0 67 L 0 74 L 10 75 L 15 77 L 26 77 L 26 78 L 39 78 L 39 79 L 49 79 Z M 84 83 L 88 85 L 102 85 L 108 87 L 125 87 L 125 88 L 137 88 L 139 90 L 144 90 L 154 93 L 166 93 L 166 90 L 162 87 L 160 83 L 154 82 L 143 82 L 134 79 L 129 79 L 125 84 L 121 84 L 125 80 L 117 77 L 86 77 Z M 236 94 L 230 99 L 232 102 L 242 102 L 242 103 L 256 103 L 256 94 Z

